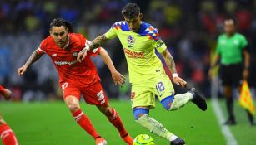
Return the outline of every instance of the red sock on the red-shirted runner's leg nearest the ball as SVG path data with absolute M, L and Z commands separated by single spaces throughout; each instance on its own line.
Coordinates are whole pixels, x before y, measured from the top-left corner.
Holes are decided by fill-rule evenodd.
M 108 116 L 108 120 L 110 121 L 110 123 L 113 124 L 113 126 L 115 126 L 118 129 L 118 132 L 120 133 L 121 137 L 125 137 L 128 133 L 125 130 L 125 128 L 123 127 L 123 123 L 121 118 L 118 115 L 118 112 L 115 109 L 111 109 L 111 116 Z

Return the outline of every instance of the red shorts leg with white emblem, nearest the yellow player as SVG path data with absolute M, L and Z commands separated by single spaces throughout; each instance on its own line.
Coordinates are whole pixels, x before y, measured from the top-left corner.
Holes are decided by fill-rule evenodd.
M 81 91 L 86 103 L 103 106 L 108 105 L 108 97 L 99 81 L 93 85 L 82 88 Z

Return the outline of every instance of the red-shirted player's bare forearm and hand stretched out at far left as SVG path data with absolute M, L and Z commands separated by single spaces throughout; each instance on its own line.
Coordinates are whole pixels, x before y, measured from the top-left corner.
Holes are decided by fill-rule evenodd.
M 38 51 L 33 51 L 33 53 L 31 54 L 31 56 L 29 56 L 27 62 L 20 68 L 18 68 L 17 70 L 17 74 L 19 76 L 23 75 L 26 70 L 28 69 L 28 66 L 32 65 L 34 62 L 36 62 L 37 60 L 39 60 L 39 58 L 43 56 L 43 54 L 38 53 Z

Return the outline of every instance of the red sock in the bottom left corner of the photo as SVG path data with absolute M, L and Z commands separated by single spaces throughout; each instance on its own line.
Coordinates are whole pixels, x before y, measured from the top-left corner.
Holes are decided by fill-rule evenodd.
M 3 145 L 18 145 L 15 134 L 13 133 L 13 130 L 8 126 L 8 124 L 0 125 L 0 135 Z

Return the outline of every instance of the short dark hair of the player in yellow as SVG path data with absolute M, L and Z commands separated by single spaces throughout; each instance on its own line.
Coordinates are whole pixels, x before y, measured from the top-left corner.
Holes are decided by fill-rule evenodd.
M 138 17 L 139 13 L 140 13 L 140 8 L 136 3 L 128 3 L 127 5 L 125 5 L 125 7 L 123 7 L 123 10 L 122 10 L 123 16 L 127 18 Z

